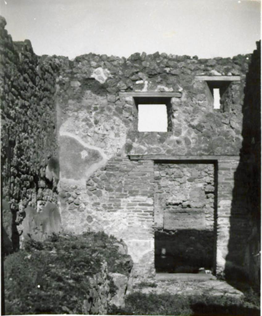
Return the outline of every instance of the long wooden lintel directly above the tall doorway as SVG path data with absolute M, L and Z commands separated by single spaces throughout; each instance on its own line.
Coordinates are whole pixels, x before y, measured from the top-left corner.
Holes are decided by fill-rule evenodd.
M 130 160 L 239 160 L 239 156 L 128 155 Z

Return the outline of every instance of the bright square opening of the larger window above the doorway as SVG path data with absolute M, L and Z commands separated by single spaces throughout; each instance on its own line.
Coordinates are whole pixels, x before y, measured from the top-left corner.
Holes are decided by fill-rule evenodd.
M 167 106 L 165 104 L 138 104 L 138 131 L 167 132 Z

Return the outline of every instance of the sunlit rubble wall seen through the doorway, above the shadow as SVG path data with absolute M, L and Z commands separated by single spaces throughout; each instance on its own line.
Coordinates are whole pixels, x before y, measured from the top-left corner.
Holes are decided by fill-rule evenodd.
M 156 228 L 213 229 L 213 164 L 156 163 L 154 173 Z

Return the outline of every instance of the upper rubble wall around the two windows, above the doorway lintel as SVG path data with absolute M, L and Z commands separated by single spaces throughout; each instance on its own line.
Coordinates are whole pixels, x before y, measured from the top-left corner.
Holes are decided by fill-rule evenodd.
M 238 155 L 247 58 L 250 55 L 198 60 L 159 53 L 136 53 L 127 59 L 94 54 L 77 57 L 58 78 L 60 135 L 72 133 L 89 146 L 95 144 L 106 160 L 120 152 Z M 241 76 L 240 82 L 228 85 L 227 98 L 223 94 L 227 110 L 212 109 L 206 81 L 195 78 L 213 74 Z M 175 92 L 169 113 L 172 131 L 136 132 L 135 101 L 121 95 L 131 91 Z

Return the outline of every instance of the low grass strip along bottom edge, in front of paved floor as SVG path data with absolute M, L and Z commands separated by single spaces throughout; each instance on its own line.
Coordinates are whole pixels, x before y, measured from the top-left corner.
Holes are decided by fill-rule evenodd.
M 111 315 L 259 316 L 259 300 L 227 295 L 172 295 L 134 292 L 125 299 L 125 309 L 112 307 Z

